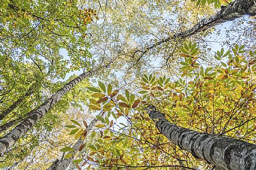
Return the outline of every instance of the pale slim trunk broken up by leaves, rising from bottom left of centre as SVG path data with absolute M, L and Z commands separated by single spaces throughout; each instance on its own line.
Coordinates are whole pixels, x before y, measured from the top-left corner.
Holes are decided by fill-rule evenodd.
M 104 112 L 101 111 L 101 113 L 98 114 L 98 116 L 103 116 Z M 91 129 L 95 126 L 95 124 L 97 123 L 97 117 L 92 120 L 92 122 L 89 124 L 89 126 L 86 128 L 87 130 L 87 134 L 91 131 Z M 78 152 L 78 149 L 81 147 L 81 145 L 83 144 L 83 140 L 80 138 L 77 140 L 76 144 L 73 146 L 73 151 L 68 152 L 72 153 L 73 155 L 69 158 L 65 158 L 62 161 L 60 160 L 55 160 L 53 162 L 53 164 L 47 169 L 47 170 L 66 170 L 69 166 L 69 164 L 71 164 L 72 160 L 75 158 L 76 153 Z

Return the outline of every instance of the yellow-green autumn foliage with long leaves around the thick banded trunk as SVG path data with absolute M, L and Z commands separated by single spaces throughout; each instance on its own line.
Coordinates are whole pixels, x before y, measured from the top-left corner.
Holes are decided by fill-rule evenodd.
M 91 109 L 103 103 L 101 108 L 113 108 L 115 118 L 127 123 L 117 131 L 110 120 L 103 121 L 100 128 L 106 133 L 99 135 L 91 150 L 97 156 L 87 159 L 89 164 L 103 169 L 254 169 L 256 51 L 244 47 L 222 48 L 217 64 L 204 69 L 199 48 L 189 42 L 181 49 L 178 80 L 143 75 L 136 95 L 128 90 L 116 97 L 95 95 Z M 97 144 L 103 150 L 97 151 Z

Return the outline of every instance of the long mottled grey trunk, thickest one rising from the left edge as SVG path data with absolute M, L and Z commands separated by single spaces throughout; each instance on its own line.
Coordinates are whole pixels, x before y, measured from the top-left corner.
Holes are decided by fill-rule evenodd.
M 105 65 L 104 67 L 108 67 Z M 38 109 L 34 110 L 34 113 L 22 121 L 16 128 L 11 130 L 10 133 L 6 134 L 2 139 L 0 139 L 0 156 L 3 156 L 3 153 L 6 152 L 15 142 L 24 135 L 27 130 L 31 129 L 38 120 L 40 120 L 45 113 L 54 106 L 57 101 L 59 101 L 62 96 L 68 93 L 75 85 L 81 82 L 85 77 L 88 77 L 94 74 L 96 70 L 91 70 L 88 72 L 83 72 L 81 75 L 68 82 L 64 85 L 62 89 L 58 90 L 57 93 L 52 95 L 48 100 L 45 101 Z M 30 113 L 28 113 L 30 115 Z

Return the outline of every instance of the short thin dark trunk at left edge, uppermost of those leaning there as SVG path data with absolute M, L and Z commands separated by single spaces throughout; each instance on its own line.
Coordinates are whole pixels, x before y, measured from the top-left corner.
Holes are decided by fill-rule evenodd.
M 27 96 L 31 95 L 33 93 L 33 89 L 34 89 L 34 86 L 33 85 L 30 86 L 29 90 L 27 90 L 25 95 L 21 96 L 18 100 L 15 101 L 15 103 L 10 105 L 8 109 L 4 110 L 0 114 L 0 120 L 2 120 L 3 118 L 5 118 L 5 116 L 11 113 L 11 111 L 15 109 L 20 103 L 22 103 L 22 101 L 24 101 L 24 99 L 26 99 Z

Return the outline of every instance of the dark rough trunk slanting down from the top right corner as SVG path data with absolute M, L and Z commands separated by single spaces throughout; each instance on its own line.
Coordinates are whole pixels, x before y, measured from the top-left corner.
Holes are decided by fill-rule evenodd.
M 227 21 L 235 20 L 236 18 L 240 18 L 240 17 L 244 16 L 245 14 L 248 14 L 249 16 L 256 15 L 256 1 L 255 0 L 236 0 L 235 2 L 232 2 L 232 3 L 228 4 L 227 6 L 225 6 L 224 8 L 222 8 L 215 15 L 199 21 L 192 28 L 189 28 L 188 30 L 186 30 L 184 32 L 177 33 L 173 36 L 162 39 L 161 41 L 156 42 L 153 45 L 146 47 L 145 50 L 141 51 L 142 55 L 146 54 L 146 52 L 151 50 L 152 48 L 155 48 L 155 47 L 161 45 L 162 43 L 169 42 L 174 38 L 187 38 L 189 36 L 194 35 L 197 32 L 207 30 L 208 28 L 216 26 L 220 23 L 224 23 Z

